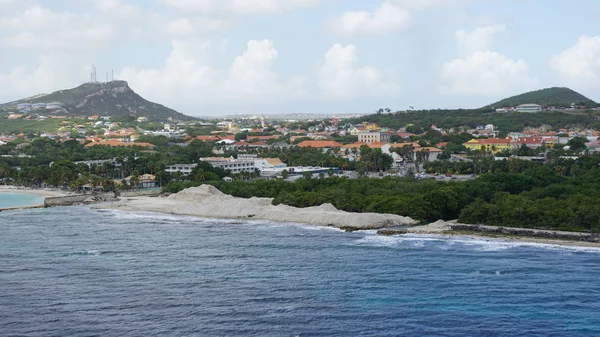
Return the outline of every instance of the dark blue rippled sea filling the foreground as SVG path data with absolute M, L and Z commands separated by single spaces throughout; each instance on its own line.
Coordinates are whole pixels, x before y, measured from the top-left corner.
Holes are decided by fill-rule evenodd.
M 600 251 L 3 212 L 0 335 L 599 336 Z

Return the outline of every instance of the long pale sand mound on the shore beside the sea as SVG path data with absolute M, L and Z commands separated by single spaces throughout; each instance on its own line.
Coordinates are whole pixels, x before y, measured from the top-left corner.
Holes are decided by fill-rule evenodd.
M 105 208 L 210 218 L 252 218 L 348 229 L 384 228 L 416 223 L 411 218 L 394 214 L 344 212 L 329 203 L 296 208 L 286 205 L 274 206 L 272 201 L 271 198 L 236 198 L 222 193 L 214 186 L 201 185 L 187 188 L 167 198 L 138 197 Z

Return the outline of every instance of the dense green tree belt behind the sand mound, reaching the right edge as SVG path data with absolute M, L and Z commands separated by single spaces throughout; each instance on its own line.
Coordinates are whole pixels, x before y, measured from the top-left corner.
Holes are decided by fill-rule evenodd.
M 391 213 L 423 221 L 600 232 L 600 155 L 549 164 L 491 161 L 467 182 L 410 178 L 306 177 L 295 182 L 210 182 L 237 197 L 270 197 L 297 207 L 332 203 L 352 212 Z M 199 185 L 188 184 L 189 186 Z M 166 189 L 177 192 L 173 184 Z

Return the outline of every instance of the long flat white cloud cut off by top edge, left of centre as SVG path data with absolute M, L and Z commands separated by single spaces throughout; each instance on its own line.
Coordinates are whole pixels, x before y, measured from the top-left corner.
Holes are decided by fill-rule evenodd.
M 265 15 L 306 8 L 321 0 L 160 0 L 186 13 Z

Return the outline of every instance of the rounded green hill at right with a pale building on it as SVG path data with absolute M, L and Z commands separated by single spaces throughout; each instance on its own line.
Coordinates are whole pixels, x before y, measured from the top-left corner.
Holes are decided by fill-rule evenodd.
M 582 94 L 569 88 L 547 88 L 531 91 L 521 95 L 503 99 L 486 108 L 502 108 L 508 106 L 517 106 L 520 104 L 539 104 L 543 106 L 556 106 L 568 108 L 572 103 L 584 105 L 586 107 L 596 107 L 598 104 Z

